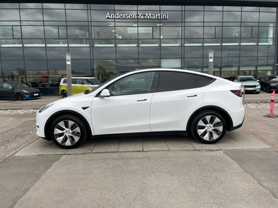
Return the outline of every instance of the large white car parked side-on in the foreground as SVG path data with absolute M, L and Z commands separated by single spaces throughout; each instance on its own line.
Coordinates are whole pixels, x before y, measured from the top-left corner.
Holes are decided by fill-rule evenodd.
M 213 144 L 243 125 L 244 88 L 183 69 L 130 71 L 89 93 L 45 105 L 37 112 L 37 135 L 75 148 L 99 135 L 187 135 Z

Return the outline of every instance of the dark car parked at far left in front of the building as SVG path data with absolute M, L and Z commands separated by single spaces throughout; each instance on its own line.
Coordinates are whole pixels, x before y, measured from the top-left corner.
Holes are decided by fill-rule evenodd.
M 17 101 L 40 98 L 40 90 L 23 83 L 0 83 L 0 99 Z

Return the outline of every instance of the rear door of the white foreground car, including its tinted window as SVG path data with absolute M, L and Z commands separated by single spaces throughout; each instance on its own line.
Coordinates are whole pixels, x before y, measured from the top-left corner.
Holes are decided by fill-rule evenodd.
M 204 92 L 196 86 L 196 75 L 161 71 L 158 92 L 152 98 L 152 132 L 186 130 L 190 115 L 202 106 Z

